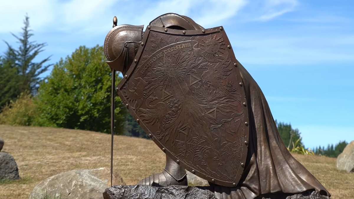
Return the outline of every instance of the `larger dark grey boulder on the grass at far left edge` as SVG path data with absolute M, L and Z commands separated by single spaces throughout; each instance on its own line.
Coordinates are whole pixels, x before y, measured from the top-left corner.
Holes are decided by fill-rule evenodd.
M 19 178 L 15 159 L 8 153 L 0 152 L 0 180 L 17 180 Z

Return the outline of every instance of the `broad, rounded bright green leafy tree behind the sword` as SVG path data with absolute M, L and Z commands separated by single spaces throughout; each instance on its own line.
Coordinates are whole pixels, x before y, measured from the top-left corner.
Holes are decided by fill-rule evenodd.
M 40 84 L 36 125 L 110 132 L 111 72 L 103 48 L 80 46 Z M 116 77 L 119 82 L 120 78 Z M 115 98 L 115 132 L 124 131 L 126 108 Z

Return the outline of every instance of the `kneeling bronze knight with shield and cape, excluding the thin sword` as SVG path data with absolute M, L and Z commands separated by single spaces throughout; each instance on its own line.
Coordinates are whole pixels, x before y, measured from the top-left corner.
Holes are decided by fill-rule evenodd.
M 104 41 L 115 87 L 139 125 L 166 153 L 165 169 L 139 181 L 187 185 L 206 179 L 219 198 L 330 193 L 284 146 L 256 81 L 235 58 L 223 27 L 205 29 L 167 13 L 143 26 L 117 25 Z

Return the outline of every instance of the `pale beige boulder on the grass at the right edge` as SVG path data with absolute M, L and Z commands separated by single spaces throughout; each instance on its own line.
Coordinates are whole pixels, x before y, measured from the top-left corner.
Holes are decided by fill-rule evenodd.
M 354 141 L 350 142 L 337 157 L 337 169 L 354 172 Z

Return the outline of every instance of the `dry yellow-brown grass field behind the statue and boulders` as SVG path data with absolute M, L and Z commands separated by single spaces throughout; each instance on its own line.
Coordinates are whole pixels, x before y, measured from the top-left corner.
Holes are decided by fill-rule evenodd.
M 82 130 L 0 125 L 2 151 L 15 158 L 21 180 L 0 184 L 0 199 L 28 198 L 33 187 L 55 174 L 110 166 L 110 135 Z M 154 154 L 154 155 L 153 155 Z M 327 188 L 334 199 L 354 198 L 354 174 L 336 170 L 336 159 L 293 154 Z M 153 141 L 114 137 L 114 170 L 135 184 L 165 163 Z

